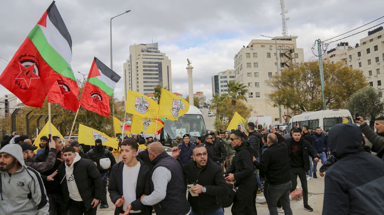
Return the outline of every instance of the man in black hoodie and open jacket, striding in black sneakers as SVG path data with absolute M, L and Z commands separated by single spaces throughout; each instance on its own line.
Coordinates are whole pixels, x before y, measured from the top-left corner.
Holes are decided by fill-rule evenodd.
M 306 171 L 310 170 L 310 164 L 308 156 L 314 158 L 314 161 L 319 162 L 319 156 L 313 150 L 313 147 L 308 141 L 301 137 L 301 130 L 293 130 L 292 137 L 288 137 L 286 142 L 282 143 L 288 150 L 288 159 L 291 165 L 291 181 L 294 191 L 297 186 L 297 176 L 300 178 L 301 188 L 303 189 L 303 203 L 304 209 L 313 211 L 310 205 L 308 205 L 308 186 Z

